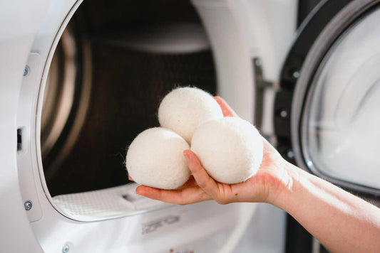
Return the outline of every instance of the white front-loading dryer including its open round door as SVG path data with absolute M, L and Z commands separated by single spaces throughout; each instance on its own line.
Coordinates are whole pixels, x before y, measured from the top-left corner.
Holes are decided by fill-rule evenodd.
M 3 3 L 1 251 L 323 252 L 269 205 L 135 195 L 125 146 L 158 124 L 166 92 L 195 85 L 289 161 L 376 203 L 378 5 Z

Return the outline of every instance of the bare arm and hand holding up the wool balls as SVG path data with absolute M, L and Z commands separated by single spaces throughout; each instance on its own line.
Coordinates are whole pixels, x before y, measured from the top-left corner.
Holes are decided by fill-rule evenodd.
M 215 97 L 223 114 L 237 114 Z M 177 190 L 140 185 L 136 193 L 167 203 L 187 205 L 215 200 L 270 203 L 292 215 L 331 252 L 380 252 L 380 209 L 341 188 L 288 163 L 265 139 L 259 171 L 243 183 L 225 184 L 212 179 L 190 150 L 183 152 L 192 173 Z M 132 178 L 130 178 L 132 180 Z

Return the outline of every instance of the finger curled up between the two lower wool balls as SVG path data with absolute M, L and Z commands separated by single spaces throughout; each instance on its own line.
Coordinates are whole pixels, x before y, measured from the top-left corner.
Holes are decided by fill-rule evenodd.
M 194 176 L 195 181 L 197 181 L 197 184 L 200 188 L 205 190 L 208 195 L 216 199 L 219 188 L 217 187 L 215 180 L 208 175 L 207 171 L 202 167 L 199 159 L 192 151 L 185 150 L 183 151 L 183 155 L 188 161 L 188 166 L 192 176 Z

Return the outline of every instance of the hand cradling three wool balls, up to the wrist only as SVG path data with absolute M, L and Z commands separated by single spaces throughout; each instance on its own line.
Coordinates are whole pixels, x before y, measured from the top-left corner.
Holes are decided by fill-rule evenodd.
M 221 97 L 215 97 L 225 117 L 238 117 Z M 220 204 L 232 202 L 274 203 L 283 188 L 291 184 L 287 174 L 287 161 L 279 155 L 267 140 L 264 144 L 264 156 L 255 176 L 236 184 L 219 183 L 211 178 L 202 167 L 197 156 L 190 150 L 183 152 L 192 173 L 185 185 L 175 190 L 163 190 L 140 185 L 136 193 L 155 200 L 178 205 L 187 205 L 205 200 L 215 200 Z M 130 180 L 133 180 L 130 178 Z

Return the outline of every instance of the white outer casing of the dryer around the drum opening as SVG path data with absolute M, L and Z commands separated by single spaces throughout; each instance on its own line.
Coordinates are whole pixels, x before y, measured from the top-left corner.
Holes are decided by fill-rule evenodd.
M 1 7 L 1 250 L 232 252 L 247 227 L 253 224 L 255 228 L 257 220 L 251 217 L 257 204 L 178 206 L 148 201 L 143 208 L 130 204 L 131 211 L 124 215 L 81 220 L 70 217 L 51 198 L 39 143 L 41 97 L 58 40 L 80 4 L 72 0 L 18 1 Z M 267 80 L 278 80 L 296 26 L 297 1 L 194 0 L 193 4 L 212 45 L 219 95 L 241 117 L 253 122 L 252 59 L 262 59 Z M 263 131 L 272 131 L 270 122 L 267 126 Z M 30 210 L 24 208 L 27 202 L 32 203 Z M 283 217 L 282 211 L 275 212 Z M 271 226 L 283 231 L 284 219 Z M 283 247 L 282 239 L 276 247 Z

